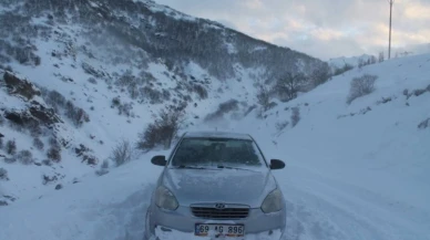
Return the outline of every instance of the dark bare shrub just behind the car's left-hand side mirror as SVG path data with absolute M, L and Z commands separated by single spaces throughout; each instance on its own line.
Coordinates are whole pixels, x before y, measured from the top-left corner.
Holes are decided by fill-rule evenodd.
M 149 152 L 157 146 L 170 148 L 184 121 L 184 113 L 176 109 L 162 109 L 157 119 L 139 134 L 136 147 Z

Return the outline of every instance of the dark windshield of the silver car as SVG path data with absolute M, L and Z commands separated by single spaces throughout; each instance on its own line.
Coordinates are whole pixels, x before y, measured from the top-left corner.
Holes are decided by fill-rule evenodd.
M 172 166 L 262 167 L 264 158 L 253 140 L 233 138 L 184 138 Z

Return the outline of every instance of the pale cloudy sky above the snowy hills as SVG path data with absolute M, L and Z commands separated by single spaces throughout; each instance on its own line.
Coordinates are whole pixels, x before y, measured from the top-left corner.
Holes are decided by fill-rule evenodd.
M 388 1 L 155 0 L 322 60 L 381 51 L 388 55 Z M 391 44 L 392 56 L 430 52 L 430 0 L 395 0 Z

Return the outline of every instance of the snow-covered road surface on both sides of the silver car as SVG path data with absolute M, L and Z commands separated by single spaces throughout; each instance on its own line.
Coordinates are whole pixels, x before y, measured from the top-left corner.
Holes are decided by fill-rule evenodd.
M 144 212 L 160 171 L 143 157 L 103 177 L 1 208 L 0 239 L 142 240 Z M 287 199 L 287 239 L 429 238 L 429 215 L 378 192 L 291 164 L 276 177 Z

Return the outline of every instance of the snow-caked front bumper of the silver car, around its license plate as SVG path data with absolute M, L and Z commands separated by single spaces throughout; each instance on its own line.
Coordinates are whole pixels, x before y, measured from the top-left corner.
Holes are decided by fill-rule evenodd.
M 279 240 L 286 225 L 285 209 L 279 212 L 264 213 L 259 208 L 249 209 L 248 217 L 238 220 L 209 220 L 192 215 L 191 208 L 178 207 L 175 211 L 166 211 L 157 207 L 149 209 L 146 219 L 146 239 L 160 240 L 206 240 L 219 239 L 194 236 L 196 223 L 237 223 L 245 226 L 245 237 L 226 238 L 240 240 Z

